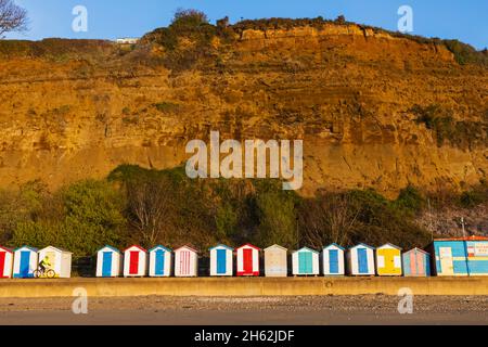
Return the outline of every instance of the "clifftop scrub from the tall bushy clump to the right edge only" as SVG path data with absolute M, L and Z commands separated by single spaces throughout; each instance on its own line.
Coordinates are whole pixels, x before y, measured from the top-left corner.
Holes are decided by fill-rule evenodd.
M 355 24 L 346 21 L 341 15 L 335 21 L 318 16 L 314 18 L 260 18 L 244 20 L 233 25 L 229 24 L 229 18 L 224 17 L 217 21 L 217 25 L 208 22 L 205 13 L 196 10 L 179 10 L 171 24 L 168 27 L 155 29 L 144 36 L 142 42 L 157 43 L 167 51 L 165 64 L 172 69 L 185 69 L 193 66 L 198 59 L 209 57 L 216 54 L 211 47 L 214 38 L 218 38 L 222 43 L 232 43 L 239 40 L 242 33 L 246 29 L 270 30 L 284 29 L 290 30 L 294 27 L 309 26 L 317 29 L 324 28 L 325 25 L 358 25 L 362 30 L 373 30 L 374 33 L 384 33 L 393 37 L 406 38 L 419 43 L 445 46 L 454 55 L 455 61 L 461 64 L 479 64 L 488 66 L 488 51 L 477 51 L 472 46 L 458 40 L 442 40 L 438 38 L 425 38 L 398 31 L 389 31 L 383 28 Z M 185 42 L 185 43 L 182 43 Z M 189 44 L 189 42 L 191 42 Z

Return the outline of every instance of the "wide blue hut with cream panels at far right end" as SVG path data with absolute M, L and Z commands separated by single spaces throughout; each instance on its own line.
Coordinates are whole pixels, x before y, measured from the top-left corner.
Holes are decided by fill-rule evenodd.
M 438 239 L 428 249 L 436 275 L 488 275 L 488 237 Z

